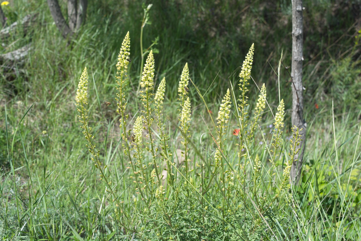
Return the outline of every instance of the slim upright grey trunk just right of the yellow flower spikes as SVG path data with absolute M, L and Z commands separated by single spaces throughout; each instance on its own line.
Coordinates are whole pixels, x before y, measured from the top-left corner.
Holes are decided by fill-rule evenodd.
M 300 132 L 301 148 L 291 167 L 291 180 L 294 185 L 300 181 L 303 155 L 305 153 L 306 123 L 303 119 L 303 85 L 302 85 L 302 60 L 303 60 L 303 16 L 302 0 L 292 0 L 292 126 L 303 128 Z

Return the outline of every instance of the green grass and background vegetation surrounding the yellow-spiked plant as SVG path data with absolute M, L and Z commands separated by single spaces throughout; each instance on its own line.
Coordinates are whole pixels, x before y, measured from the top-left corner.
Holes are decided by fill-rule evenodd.
M 65 12 L 66 4 L 61 6 Z M 360 6 L 358 0 L 304 0 L 305 166 L 302 184 L 292 190 L 299 208 L 284 207 L 278 221 L 287 220 L 287 228 L 274 240 L 357 240 L 360 236 Z M 119 141 L 118 116 L 115 103 L 105 108 L 100 102 L 114 102 L 116 59 L 130 31 L 129 99 L 134 102 L 128 108 L 133 116 L 138 111 L 140 103 L 132 93 L 142 69 L 142 6 L 136 1 L 92 1 L 85 25 L 70 44 L 53 24 L 46 1 L 10 1 L 3 10 L 9 23 L 30 13 L 37 17 L 30 33 L 24 36 L 19 26 L 0 46 L 0 53 L 6 53 L 32 44 L 24 66 L 13 71 L 4 64 L 0 70 L 0 231 L 4 231 L 0 233 L 3 239 L 11 239 L 19 227 L 24 240 L 114 240 L 119 227 L 105 186 L 84 148 L 74 96 L 87 66 L 89 95 L 96 96 L 89 103 L 90 122 L 105 158 L 112 160 L 109 140 Z M 291 135 L 287 133 L 290 1 L 154 1 L 149 14 L 151 24 L 144 28 L 143 46 L 157 39 L 155 82 L 157 86 L 163 77 L 167 79 L 165 106 L 177 102 L 177 85 L 187 62 L 190 77 L 205 93 L 215 118 L 227 88 L 238 84 L 239 66 L 255 43 L 255 82 L 249 87 L 249 102 L 255 105 L 256 85 L 265 83 L 270 107 L 277 108 L 277 67 L 283 50 L 280 98 L 286 109 L 284 137 Z M 200 115 L 207 122 L 209 117 L 197 92 L 191 89 L 189 95 L 193 123 L 197 123 L 193 138 L 199 141 L 207 131 Z M 171 108 L 166 107 L 164 115 L 178 119 Z M 273 123 L 270 112 L 263 119 L 264 127 Z M 236 138 L 232 129 L 229 140 Z M 295 221 L 294 213 L 299 220 Z

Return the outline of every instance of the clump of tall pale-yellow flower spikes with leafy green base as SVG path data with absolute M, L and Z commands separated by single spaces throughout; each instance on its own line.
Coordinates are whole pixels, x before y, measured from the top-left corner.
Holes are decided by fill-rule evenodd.
M 271 139 L 265 139 L 260 124 L 265 112 L 265 85 L 261 87 L 252 113 L 247 96 L 253 48 L 252 45 L 239 76 L 238 100 L 234 97 L 234 90 L 227 89 L 220 104 L 216 124 L 213 122 L 213 134 L 210 133 L 213 146 L 198 149 L 195 142 L 197 133 L 191 132 L 192 112 L 188 93 L 192 88 L 188 83 L 192 80 L 188 64 L 184 66 L 179 81 L 179 126 L 174 128 L 176 134 L 173 134 L 173 139 L 165 126 L 174 123 L 167 121 L 163 114 L 165 78 L 154 93 L 155 63 L 152 51 L 147 57 L 140 82 L 141 112 L 134 116 L 135 113 L 127 110 L 130 55 L 130 37 L 127 33 L 116 65 L 116 100 L 122 151 L 120 159 L 115 162 L 122 165 L 109 163 L 112 169 L 123 167 L 120 171 L 124 175 L 120 179 L 118 176 L 111 178 L 111 173 L 100 158 L 100 150 L 96 150 L 86 109 L 88 75 L 87 69 L 84 69 L 76 96 L 79 121 L 88 142 L 87 148 L 95 167 L 99 169 L 100 180 L 105 182 L 106 191 L 112 195 L 114 216 L 121 230 L 119 238 L 147 241 L 269 240 L 268 237 L 275 235 L 273 230 L 277 225 L 282 225 L 280 208 L 289 202 L 286 191 L 290 185 L 289 170 L 295 161 L 293 159 L 298 151 L 295 147 L 300 135 L 299 130 L 293 128 L 288 156 L 285 151 L 280 151 L 287 149 L 282 138 L 282 100 Z M 194 85 L 194 88 L 204 101 L 197 86 Z M 235 111 L 232 111 L 232 104 Z M 232 113 L 236 113 L 241 129 L 236 143 L 227 140 Z M 129 114 L 134 116 L 134 122 L 129 120 Z M 265 143 L 262 146 L 257 144 L 260 138 Z M 179 141 L 182 144 L 183 163 L 179 163 L 175 155 Z M 282 159 L 286 159 L 286 165 L 281 167 L 284 169 L 281 175 L 278 165 Z

